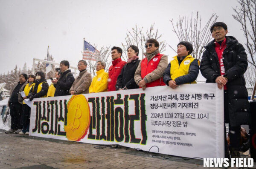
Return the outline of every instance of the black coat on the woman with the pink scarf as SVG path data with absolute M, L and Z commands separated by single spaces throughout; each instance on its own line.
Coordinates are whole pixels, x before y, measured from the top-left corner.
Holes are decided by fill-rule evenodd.
M 139 66 L 140 60 L 132 60 L 131 63 L 126 63 L 122 68 L 121 73 L 117 77 L 116 90 L 126 86 L 127 89 L 138 89 L 139 86 L 134 81 L 134 74 Z

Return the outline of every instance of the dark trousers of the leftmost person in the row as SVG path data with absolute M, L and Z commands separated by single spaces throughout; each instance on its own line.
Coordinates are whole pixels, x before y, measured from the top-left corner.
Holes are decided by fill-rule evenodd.
M 10 115 L 11 115 L 11 129 L 21 129 L 20 117 L 22 105 L 20 103 L 9 103 Z

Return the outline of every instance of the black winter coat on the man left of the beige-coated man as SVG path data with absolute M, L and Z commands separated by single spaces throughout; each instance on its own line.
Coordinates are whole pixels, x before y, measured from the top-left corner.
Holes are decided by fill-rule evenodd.
M 58 79 L 57 84 L 53 86 L 56 88 L 54 96 L 67 96 L 70 95 L 69 90 L 75 81 L 71 70 L 67 70 L 61 73 L 61 77 Z

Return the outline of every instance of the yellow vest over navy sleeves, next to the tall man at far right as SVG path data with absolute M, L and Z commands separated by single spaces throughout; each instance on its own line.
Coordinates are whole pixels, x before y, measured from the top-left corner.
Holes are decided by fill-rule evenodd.
M 190 54 L 186 56 L 182 62 L 179 65 L 179 61 L 177 59 L 177 56 L 173 57 L 174 59 L 170 62 L 171 63 L 171 69 L 170 74 L 172 80 L 175 80 L 177 77 L 189 74 L 189 66 L 190 64 L 195 60 L 194 57 L 192 57 Z M 199 61 L 198 61 L 199 65 Z M 196 83 L 195 81 L 191 83 Z M 189 83 L 186 83 L 189 84 Z

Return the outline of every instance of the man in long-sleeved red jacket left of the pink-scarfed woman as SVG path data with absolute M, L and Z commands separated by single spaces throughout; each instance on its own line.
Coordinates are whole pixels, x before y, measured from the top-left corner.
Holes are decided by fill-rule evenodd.
M 108 92 L 116 90 L 116 80 L 121 73 L 122 67 L 125 65 L 125 61 L 122 61 L 122 49 L 114 46 L 111 49 L 112 65 L 108 69 Z

